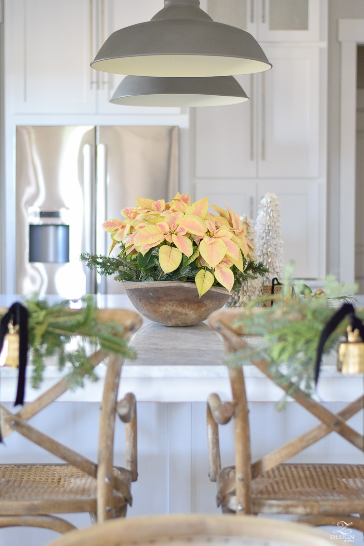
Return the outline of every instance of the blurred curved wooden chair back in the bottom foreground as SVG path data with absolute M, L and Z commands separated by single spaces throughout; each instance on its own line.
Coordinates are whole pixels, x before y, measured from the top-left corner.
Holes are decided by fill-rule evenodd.
M 258 525 L 259 524 L 259 525 Z M 329 546 L 330 535 L 312 527 L 252 516 L 163 515 L 106 521 L 67 533 L 50 546 Z

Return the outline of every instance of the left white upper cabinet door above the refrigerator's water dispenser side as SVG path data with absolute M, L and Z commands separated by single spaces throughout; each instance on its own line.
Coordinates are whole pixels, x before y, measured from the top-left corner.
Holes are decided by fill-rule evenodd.
M 95 0 L 13 0 L 5 70 L 15 114 L 93 114 Z

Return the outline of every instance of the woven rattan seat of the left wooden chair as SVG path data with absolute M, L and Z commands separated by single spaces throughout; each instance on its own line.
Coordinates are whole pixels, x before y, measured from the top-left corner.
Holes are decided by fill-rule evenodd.
M 131 476 L 125 468 L 117 468 L 123 482 L 130 489 Z M 86 511 L 96 509 L 97 480 L 70 465 L 0 465 L 0 513 Z M 125 503 L 123 495 L 114 490 L 113 507 Z M 12 506 L 13 505 L 13 506 Z M 51 509 L 52 508 L 52 509 Z M 66 509 L 67 508 L 67 509 Z

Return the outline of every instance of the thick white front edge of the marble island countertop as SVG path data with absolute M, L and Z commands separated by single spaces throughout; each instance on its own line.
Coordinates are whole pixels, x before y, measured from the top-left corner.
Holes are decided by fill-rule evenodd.
M 96 369 L 99 381 L 85 381 L 85 388 L 67 391 L 59 402 L 98 402 L 103 392 L 106 366 Z M 283 390 L 272 383 L 255 366 L 244 366 L 248 400 L 250 402 L 278 402 Z M 49 389 L 64 372 L 56 366 L 47 366 L 40 389 L 31 387 L 31 369 L 27 373 L 26 401 L 31 402 Z M 0 400 L 15 400 L 17 371 L 1 370 Z M 144 366 L 125 365 L 118 398 L 132 391 L 139 402 L 206 402 L 210 393 L 219 394 L 222 400 L 231 400 L 231 387 L 226 366 Z M 325 402 L 350 402 L 362 394 L 362 380 L 358 376 L 343 376 L 334 366 L 326 365 L 321 372 L 316 400 Z M 291 401 L 290 398 L 288 398 Z

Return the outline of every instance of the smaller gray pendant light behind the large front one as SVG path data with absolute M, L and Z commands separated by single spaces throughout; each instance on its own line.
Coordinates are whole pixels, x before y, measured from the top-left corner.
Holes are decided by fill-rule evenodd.
M 111 103 L 129 106 L 222 106 L 249 100 L 232 76 L 153 78 L 126 76 Z

